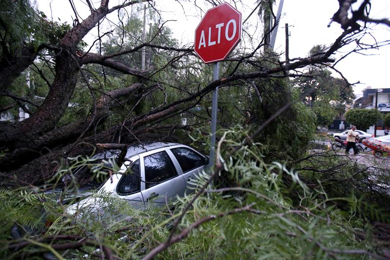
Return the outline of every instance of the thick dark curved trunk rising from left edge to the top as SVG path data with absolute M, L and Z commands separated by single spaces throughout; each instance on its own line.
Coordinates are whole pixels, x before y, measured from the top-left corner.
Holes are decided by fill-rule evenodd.
M 42 105 L 27 120 L 18 124 L 0 124 L 0 145 L 1 147 L 8 148 L 8 156 L 23 154 L 25 150 L 33 150 L 33 153 L 40 153 L 36 149 L 42 148 L 42 145 L 40 147 L 33 145 L 30 148 L 29 143 L 35 143 L 42 135 L 54 129 L 63 116 L 76 87 L 78 72 L 80 70 L 81 60 L 76 55 L 77 44 L 106 15 L 107 7 L 108 0 L 102 0 L 99 9 L 92 10 L 92 14 L 87 19 L 66 33 L 60 40 L 58 47 L 50 46 L 56 52 L 56 76 L 49 90 L 49 94 L 46 96 Z M 27 49 L 22 50 L 27 52 Z M 20 63 L 20 67 L 15 69 L 14 76 L 12 76 L 13 74 L 9 68 L 4 67 L 3 72 L 5 76 L 2 76 L 0 71 L 1 77 L 14 80 L 35 59 L 35 56 L 31 54 L 26 54 L 26 57 Z M 4 81 L 7 80 L 4 79 Z M 13 158 L 18 161 L 16 156 L 13 156 Z M 10 159 L 10 161 L 13 160 Z

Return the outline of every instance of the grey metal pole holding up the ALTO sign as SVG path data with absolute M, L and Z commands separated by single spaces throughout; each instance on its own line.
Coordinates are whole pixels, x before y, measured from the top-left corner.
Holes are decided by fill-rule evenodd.
M 213 81 L 219 79 L 219 62 L 214 63 Z M 218 87 L 213 90 L 213 104 L 211 108 L 211 143 L 210 143 L 210 161 L 209 166 L 213 167 L 215 163 L 215 133 L 216 116 L 218 110 Z

